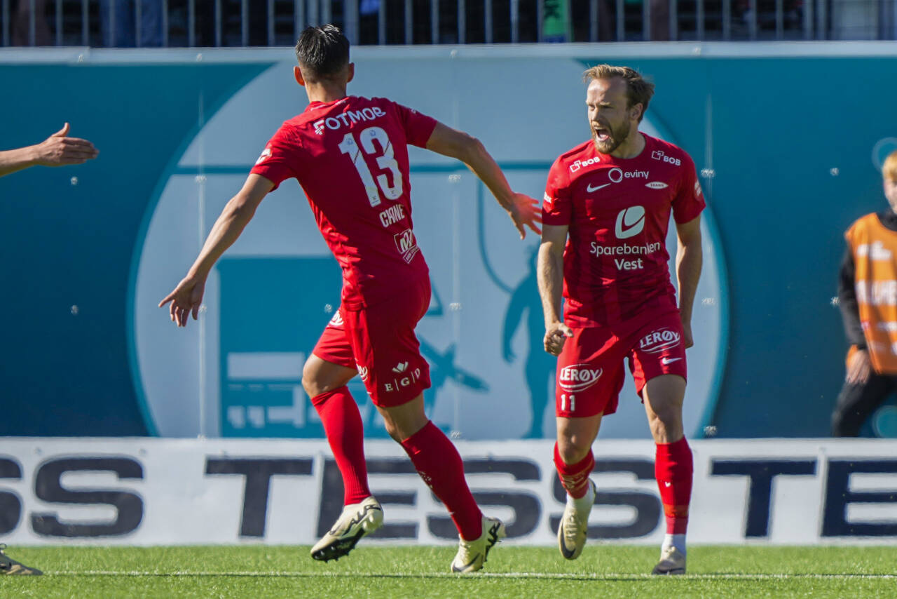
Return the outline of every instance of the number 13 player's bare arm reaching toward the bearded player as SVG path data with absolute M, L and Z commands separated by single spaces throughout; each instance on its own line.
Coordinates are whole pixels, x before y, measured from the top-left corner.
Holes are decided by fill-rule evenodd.
M 510 189 L 498 163 L 479 139 L 467 135 L 464 131 L 437 123 L 430 139 L 427 140 L 427 149 L 465 163 L 467 168 L 492 191 L 501 207 L 508 211 L 520 233 L 520 239 L 527 236 L 526 227 L 540 233 L 538 224 L 542 221 L 542 212 L 539 209 L 539 200 Z

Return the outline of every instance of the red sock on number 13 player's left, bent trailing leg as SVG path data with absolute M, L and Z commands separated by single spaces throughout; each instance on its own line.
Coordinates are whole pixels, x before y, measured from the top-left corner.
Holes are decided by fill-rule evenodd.
M 343 475 L 345 506 L 370 497 L 368 466 L 364 462 L 364 428 L 361 413 L 345 387 L 311 398 L 318 410 L 336 466 Z

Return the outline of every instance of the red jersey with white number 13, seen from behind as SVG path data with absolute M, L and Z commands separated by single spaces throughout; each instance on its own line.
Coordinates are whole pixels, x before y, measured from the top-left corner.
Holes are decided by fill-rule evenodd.
M 283 123 L 252 172 L 297 179 L 343 269 L 343 305 L 376 304 L 429 277 L 414 239 L 408 144 L 427 144 L 436 120 L 385 98 L 313 101 Z

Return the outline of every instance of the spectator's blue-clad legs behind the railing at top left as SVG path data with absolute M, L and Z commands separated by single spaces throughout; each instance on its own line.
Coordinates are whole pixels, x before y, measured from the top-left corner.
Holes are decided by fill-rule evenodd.
M 139 6 L 140 38 L 137 39 Z M 107 48 L 158 48 L 162 45 L 161 0 L 100 0 L 103 45 Z

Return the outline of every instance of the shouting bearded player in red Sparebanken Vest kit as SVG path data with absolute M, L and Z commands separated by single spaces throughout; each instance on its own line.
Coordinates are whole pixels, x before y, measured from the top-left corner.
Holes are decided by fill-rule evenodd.
M 683 574 L 692 495 L 692 451 L 682 424 L 685 348 L 692 345 L 701 275 L 704 199 L 689 155 L 639 132 L 654 85 L 625 66 L 595 66 L 585 76 L 591 139 L 549 172 L 538 258 L 544 347 L 558 357 L 554 464 L 567 490 L 558 546 L 564 558 L 576 559 L 586 543 L 596 493 L 588 479 L 592 443 L 602 416 L 616 411 L 628 359 L 657 444 L 666 515 L 653 573 Z M 678 306 L 666 252 L 671 212 Z

